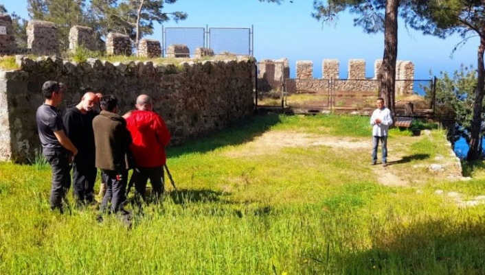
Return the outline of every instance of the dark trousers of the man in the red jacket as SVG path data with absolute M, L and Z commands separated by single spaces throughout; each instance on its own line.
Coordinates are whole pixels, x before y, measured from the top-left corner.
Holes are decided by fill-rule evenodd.
M 140 196 L 146 201 L 145 192 L 148 179 L 152 184 L 155 201 L 160 199 L 163 193 L 163 166 L 134 169 L 133 177 L 135 177 L 135 198 L 137 201 L 139 201 Z

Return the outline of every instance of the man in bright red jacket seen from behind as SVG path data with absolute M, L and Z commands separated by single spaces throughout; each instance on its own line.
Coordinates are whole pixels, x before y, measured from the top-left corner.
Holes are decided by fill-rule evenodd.
M 137 169 L 135 177 L 135 198 L 145 198 L 148 178 L 152 184 L 155 200 L 163 193 L 163 165 L 166 163 L 165 147 L 170 142 L 170 132 L 163 119 L 153 112 L 152 99 L 148 95 L 139 95 L 134 110 L 126 118 L 127 128 L 131 132 L 133 143 L 130 146 L 135 156 Z

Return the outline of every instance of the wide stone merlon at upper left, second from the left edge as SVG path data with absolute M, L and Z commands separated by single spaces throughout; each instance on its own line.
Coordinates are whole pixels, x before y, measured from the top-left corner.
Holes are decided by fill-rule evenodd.
M 58 54 L 59 32 L 56 24 L 47 21 L 27 23 L 27 49 L 38 55 Z

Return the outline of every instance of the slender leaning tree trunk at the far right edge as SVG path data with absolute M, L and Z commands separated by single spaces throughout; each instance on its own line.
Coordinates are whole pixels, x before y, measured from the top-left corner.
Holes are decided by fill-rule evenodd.
M 485 31 L 485 30 L 484 30 Z M 482 32 L 484 33 L 484 32 Z M 482 155 L 482 147 L 480 146 L 480 134 L 482 126 L 482 106 L 484 100 L 484 81 L 485 81 L 485 69 L 484 69 L 484 50 L 485 50 L 485 37 L 480 38 L 480 46 L 478 47 L 477 56 L 477 87 L 475 88 L 475 99 L 473 100 L 473 121 L 471 123 L 470 131 L 470 150 L 466 156 L 467 160 L 477 160 Z

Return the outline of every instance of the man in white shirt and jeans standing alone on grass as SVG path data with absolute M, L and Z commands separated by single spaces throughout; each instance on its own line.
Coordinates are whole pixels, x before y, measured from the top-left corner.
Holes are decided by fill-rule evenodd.
M 379 97 L 376 101 L 377 108 L 372 112 L 370 125 L 372 125 L 372 165 L 377 163 L 377 147 L 379 141 L 382 145 L 382 165 L 387 166 L 387 134 L 392 125 L 391 111 L 384 106 L 384 99 Z

